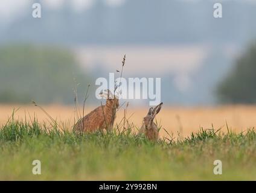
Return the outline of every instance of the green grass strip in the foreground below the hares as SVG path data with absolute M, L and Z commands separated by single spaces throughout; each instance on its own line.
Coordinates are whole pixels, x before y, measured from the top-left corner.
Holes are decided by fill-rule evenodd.
M 222 175 L 213 174 L 222 160 Z M 42 174 L 32 174 L 40 160 Z M 256 132 L 203 130 L 149 142 L 131 132 L 75 134 L 11 119 L 0 130 L 0 180 L 256 180 Z

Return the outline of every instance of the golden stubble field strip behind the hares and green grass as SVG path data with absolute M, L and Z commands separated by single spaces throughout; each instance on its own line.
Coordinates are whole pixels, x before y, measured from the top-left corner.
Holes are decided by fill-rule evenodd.
M 61 106 L 50 105 L 42 106 L 46 112 L 48 112 L 54 119 L 58 121 L 70 122 L 74 124 L 74 107 L 73 106 Z M 33 118 L 36 115 L 40 122 L 47 121 L 48 117 L 39 107 L 33 105 L 6 105 L 0 104 L 0 125 L 5 124 L 8 117 L 11 116 L 13 109 L 19 110 L 15 113 L 16 119 L 24 119 L 27 115 Z M 85 113 L 89 113 L 94 107 L 86 107 Z M 127 110 L 127 118 L 132 115 L 129 122 L 133 122 L 136 127 L 140 127 L 142 118 L 147 114 L 147 108 L 129 108 Z M 82 110 L 80 110 L 82 113 Z M 119 123 L 124 115 L 124 109 L 120 109 L 117 113 L 117 119 L 115 122 Z M 256 106 L 219 106 L 219 107 L 162 107 L 161 112 L 156 116 L 158 122 L 161 122 L 169 133 L 173 133 L 177 136 L 178 132 L 181 133 L 181 137 L 186 137 L 191 134 L 192 131 L 199 130 L 200 127 L 211 128 L 212 124 L 214 128 L 222 128 L 222 131 L 226 131 L 226 122 L 229 128 L 237 132 L 252 128 L 256 125 Z M 164 130 L 161 130 L 161 136 L 167 136 Z

